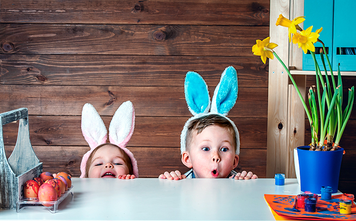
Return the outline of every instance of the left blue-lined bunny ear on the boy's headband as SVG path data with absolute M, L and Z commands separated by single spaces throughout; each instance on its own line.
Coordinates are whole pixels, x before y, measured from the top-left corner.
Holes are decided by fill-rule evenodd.
M 208 113 L 210 109 L 210 96 L 203 78 L 194 71 L 188 71 L 184 82 L 184 93 L 188 108 L 195 116 Z

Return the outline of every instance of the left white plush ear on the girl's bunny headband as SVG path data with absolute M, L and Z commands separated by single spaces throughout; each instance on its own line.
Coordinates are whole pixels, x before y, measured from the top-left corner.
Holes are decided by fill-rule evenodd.
M 81 112 L 81 131 L 91 149 L 106 143 L 106 127 L 97 110 L 90 103 L 84 104 Z

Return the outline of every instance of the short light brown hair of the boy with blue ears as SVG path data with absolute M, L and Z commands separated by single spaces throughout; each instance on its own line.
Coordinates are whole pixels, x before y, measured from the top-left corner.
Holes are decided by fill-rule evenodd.
M 235 130 L 233 129 L 233 126 L 230 121 L 228 121 L 226 118 L 217 115 L 217 114 L 211 114 L 207 116 L 203 116 L 197 119 L 192 120 L 188 124 L 188 131 L 187 131 L 187 137 L 186 137 L 186 149 L 189 151 L 190 149 L 190 143 L 192 142 L 193 139 L 193 133 L 196 131 L 196 134 L 201 133 L 206 127 L 212 126 L 212 125 L 217 125 L 222 128 L 225 128 L 229 134 L 232 135 L 232 140 L 233 140 L 233 148 L 234 151 L 236 151 L 236 139 L 235 139 Z

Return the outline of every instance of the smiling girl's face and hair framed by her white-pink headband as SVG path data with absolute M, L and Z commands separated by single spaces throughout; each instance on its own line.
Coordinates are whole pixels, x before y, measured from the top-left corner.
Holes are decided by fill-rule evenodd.
M 129 174 L 123 155 L 117 146 L 102 146 L 93 156 L 89 167 L 89 178 L 117 178 L 118 175 Z

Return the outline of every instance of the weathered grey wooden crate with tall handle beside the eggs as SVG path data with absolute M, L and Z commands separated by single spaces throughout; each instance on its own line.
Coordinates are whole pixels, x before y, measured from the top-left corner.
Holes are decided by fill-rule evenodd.
M 3 125 L 19 121 L 15 148 L 6 159 Z M 28 130 L 27 108 L 19 108 L 0 114 L 0 208 L 14 209 L 23 195 L 23 184 L 42 173 L 42 163 L 37 158 Z

